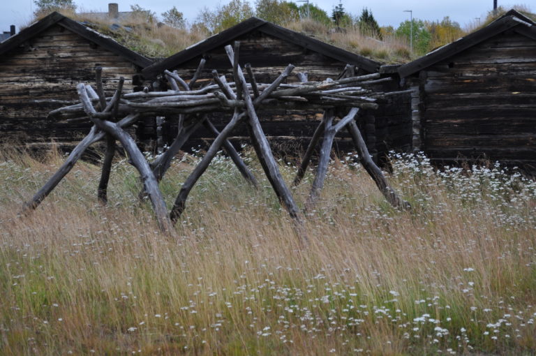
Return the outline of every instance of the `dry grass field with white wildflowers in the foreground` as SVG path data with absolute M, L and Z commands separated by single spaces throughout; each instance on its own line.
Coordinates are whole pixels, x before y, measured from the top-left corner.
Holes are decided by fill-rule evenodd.
M 126 161 L 109 207 L 96 165 L 75 166 L 34 214 L 22 203 L 61 164 L 0 161 L 1 355 L 533 355 L 536 183 L 498 166 L 393 156 L 413 206 L 382 199 L 352 157 L 335 161 L 308 244 L 258 162 L 255 191 L 218 156 L 174 236 L 158 233 Z M 161 188 L 174 200 L 195 156 Z M 292 180 L 295 168 L 281 161 Z M 306 200 L 311 175 L 295 189 Z

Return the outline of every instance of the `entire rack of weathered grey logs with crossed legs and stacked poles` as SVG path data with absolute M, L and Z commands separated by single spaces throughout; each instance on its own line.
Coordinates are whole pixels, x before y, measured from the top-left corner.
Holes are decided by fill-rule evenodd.
M 137 93 L 124 94 L 122 91 L 124 79 L 119 80 L 117 90 L 111 97 L 106 97 L 101 80 L 102 69 L 96 70 L 96 88 L 87 84 L 78 84 L 77 93 L 80 103 L 61 107 L 50 112 L 52 117 L 62 119 L 89 119 L 94 124 L 89 134 L 73 149 L 61 168 L 47 181 L 34 197 L 24 206 L 26 210 L 36 209 L 40 202 L 54 189 L 59 181 L 73 168 L 76 161 L 84 151 L 95 142 L 106 140 L 107 149 L 103 161 L 101 181 L 98 185 L 98 199 L 104 204 L 107 202 L 107 184 L 110 178 L 112 160 L 116 151 L 116 141 L 124 147 L 129 163 L 140 172 L 143 183 L 142 196 L 147 196 L 154 208 L 158 225 L 163 231 L 172 229 L 186 207 L 186 200 L 195 183 L 207 170 L 211 160 L 216 156 L 221 147 L 224 147 L 241 175 L 253 186 L 257 181 L 248 169 L 239 154 L 228 141 L 233 129 L 244 122 L 248 128 L 251 143 L 262 165 L 267 178 L 274 188 L 276 195 L 288 214 L 297 222 L 301 222 L 301 213 L 292 198 L 290 189 L 281 177 L 278 164 L 269 147 L 269 142 L 262 131 L 257 111 L 262 107 L 292 108 L 292 109 L 315 109 L 324 111 L 322 122 L 318 125 L 311 143 L 301 161 L 294 184 L 299 184 L 304 177 L 308 164 L 311 161 L 313 151 L 322 138 L 320 149 L 320 163 L 318 164 L 311 193 L 305 205 L 305 209 L 311 209 L 324 185 L 332 144 L 335 135 L 343 128 L 347 129 L 359 154 L 360 161 L 366 171 L 371 175 L 387 201 L 394 207 L 408 209 L 410 205 L 396 194 L 380 168 L 372 161 L 366 144 L 362 138 L 355 118 L 360 109 L 375 109 L 378 98 L 399 93 L 373 92 L 371 84 L 385 81 L 378 79 L 379 74 L 355 76 L 355 67 L 346 66 L 345 71 L 337 80 L 324 82 L 308 82 L 306 73 L 298 73 L 301 82 L 283 84 L 294 66 L 289 64 L 287 68 L 271 84 L 260 84 L 255 80 L 251 66 L 246 64 L 249 82 L 246 82 L 244 71 L 238 64 L 239 43 L 225 47 L 225 52 L 232 66 L 234 82 L 227 82 L 225 76 L 212 71 L 214 82 L 193 90 L 195 82 L 204 68 L 204 60 L 200 62 L 198 70 L 193 78 L 186 83 L 184 80 L 170 71 L 165 71 L 165 77 L 172 90 L 168 91 L 140 91 Z M 387 79 L 388 80 L 388 79 Z M 181 90 L 182 87 L 182 90 Z M 232 116 L 228 124 L 219 132 L 211 123 L 208 114 L 210 112 L 230 112 Z M 342 114 L 341 114 L 342 113 Z M 142 117 L 178 115 L 179 131 L 170 147 L 149 163 L 135 140 L 125 130 L 135 124 Z M 336 121 L 336 117 L 341 117 Z M 207 127 L 216 138 L 212 142 L 202 160 L 182 184 L 177 199 L 171 211 L 165 205 L 163 195 L 158 187 L 158 182 L 170 168 L 172 158 L 179 152 L 191 134 L 201 125 Z

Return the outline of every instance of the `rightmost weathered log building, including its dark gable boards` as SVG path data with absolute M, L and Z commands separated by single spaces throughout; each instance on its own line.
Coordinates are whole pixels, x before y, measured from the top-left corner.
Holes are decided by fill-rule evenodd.
M 536 165 L 536 24 L 514 10 L 399 68 L 412 147 L 434 161 Z

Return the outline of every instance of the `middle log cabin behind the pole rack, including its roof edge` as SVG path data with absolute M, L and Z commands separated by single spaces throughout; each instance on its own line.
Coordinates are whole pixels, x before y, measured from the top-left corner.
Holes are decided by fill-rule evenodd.
M 288 64 L 296 68 L 288 77 L 288 82 L 297 81 L 297 73 L 307 73 L 308 80 L 336 79 L 347 64 L 356 67 L 357 75 L 377 73 L 380 63 L 366 57 L 345 51 L 315 38 L 299 34 L 295 31 L 279 27 L 265 20 L 251 17 L 230 29 L 211 36 L 200 43 L 192 45 L 177 54 L 144 68 L 145 77 L 156 77 L 165 70 L 177 71 L 188 81 L 193 77 L 201 59 L 206 60 L 204 70 L 197 83 L 211 80 L 211 71 L 225 74 L 232 80 L 231 65 L 225 55 L 225 45 L 240 42 L 239 61 L 244 68 L 251 64 L 257 82 L 272 82 Z M 396 71 L 384 71 L 384 76 L 393 77 L 391 82 L 380 84 L 380 91 L 396 91 L 399 89 L 399 75 Z M 388 149 L 408 149 L 411 135 L 410 96 L 393 96 L 389 102 L 381 103 L 380 109 L 362 111 L 359 120 L 362 132 L 366 137 L 369 151 L 373 156 L 385 154 Z M 320 112 L 296 112 L 294 110 L 269 111 L 261 113 L 262 127 L 271 139 L 278 143 L 279 150 L 296 152 L 311 139 L 315 127 L 321 119 Z M 223 126 L 225 119 L 213 118 L 218 128 Z M 160 123 L 159 123 L 160 125 Z M 156 127 L 155 121 L 147 121 L 144 128 L 146 138 L 153 138 L 156 132 L 163 132 L 163 141 L 170 142 L 176 128 L 169 122 L 163 127 Z M 168 125 L 168 126 L 165 126 Z M 247 136 L 246 132 L 237 129 L 234 139 L 240 140 Z M 190 145 L 210 142 L 208 131 L 195 133 Z M 350 136 L 337 141 L 340 151 L 350 147 Z

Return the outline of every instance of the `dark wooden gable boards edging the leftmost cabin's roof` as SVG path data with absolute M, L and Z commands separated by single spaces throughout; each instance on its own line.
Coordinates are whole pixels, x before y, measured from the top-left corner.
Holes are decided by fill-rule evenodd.
M 54 13 L 43 17 L 42 20 L 32 24 L 30 27 L 23 29 L 15 36 L 12 36 L 0 43 L 0 57 L 5 56 L 10 50 L 17 48 L 20 45 L 24 45 L 27 40 L 52 27 L 54 24 L 58 24 L 59 26 L 64 27 L 65 29 L 72 31 L 83 38 L 86 38 L 96 45 L 99 45 L 106 50 L 109 50 L 110 52 L 117 54 L 128 61 L 131 61 L 133 64 L 140 66 L 141 68 L 147 67 L 153 63 L 151 59 L 129 50 L 123 45 L 117 43 L 116 40 L 113 40 L 108 36 L 104 36 L 103 34 L 98 33 L 98 31 L 90 29 L 80 22 L 71 20 L 70 18 L 65 17 L 64 15 L 61 15 L 61 13 L 57 13 L 55 11 Z

